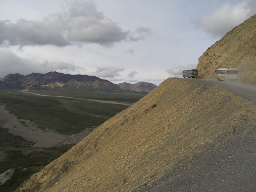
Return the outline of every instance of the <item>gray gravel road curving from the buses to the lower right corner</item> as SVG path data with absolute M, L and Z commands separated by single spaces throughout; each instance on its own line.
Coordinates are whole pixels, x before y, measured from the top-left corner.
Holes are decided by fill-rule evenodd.
M 244 125 L 217 138 L 181 168 L 169 170 L 149 186 L 134 192 L 255 192 L 256 85 L 214 79 L 191 80 L 209 82 L 242 98 L 248 111 Z M 219 122 L 218 126 L 224 128 L 224 122 Z

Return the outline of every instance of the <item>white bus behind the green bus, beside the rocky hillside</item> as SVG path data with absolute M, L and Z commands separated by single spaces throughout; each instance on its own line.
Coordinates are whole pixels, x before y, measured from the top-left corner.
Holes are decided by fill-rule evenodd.
M 215 72 L 217 79 L 221 81 L 238 79 L 238 70 L 236 68 L 218 68 Z

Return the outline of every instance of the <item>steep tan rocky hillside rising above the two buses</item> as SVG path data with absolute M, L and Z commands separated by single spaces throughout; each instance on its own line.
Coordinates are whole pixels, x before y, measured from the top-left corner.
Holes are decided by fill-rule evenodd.
M 256 15 L 228 32 L 199 58 L 200 78 L 216 79 L 217 68 L 238 68 L 241 80 L 256 84 Z

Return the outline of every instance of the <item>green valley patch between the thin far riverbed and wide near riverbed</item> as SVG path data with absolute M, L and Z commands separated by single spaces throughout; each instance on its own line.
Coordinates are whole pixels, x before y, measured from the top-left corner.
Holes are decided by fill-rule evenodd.
M 6 96 L 7 95 L 7 96 Z M 99 126 L 128 106 L 68 98 L 47 98 L 19 92 L 0 92 L 0 102 L 19 119 L 27 119 L 41 129 L 70 135 Z M 26 125 L 25 122 L 22 122 Z

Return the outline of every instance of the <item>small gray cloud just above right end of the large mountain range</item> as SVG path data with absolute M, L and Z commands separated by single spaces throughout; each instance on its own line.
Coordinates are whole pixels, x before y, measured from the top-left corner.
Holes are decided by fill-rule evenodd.
M 124 70 L 124 68 L 119 67 L 96 67 L 96 71 L 89 74 L 101 78 L 115 78 L 120 76 L 119 72 Z

